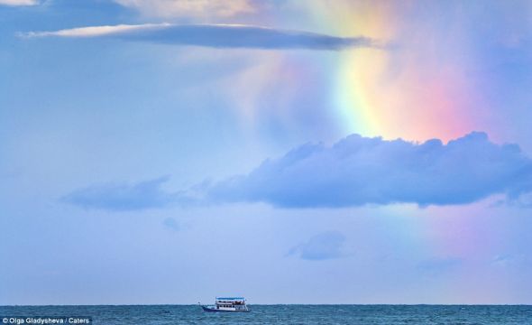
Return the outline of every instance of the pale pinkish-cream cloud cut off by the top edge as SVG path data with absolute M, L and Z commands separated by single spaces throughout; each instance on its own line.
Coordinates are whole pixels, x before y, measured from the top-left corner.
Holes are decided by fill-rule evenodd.
M 255 11 L 250 0 L 115 0 L 115 3 L 159 17 L 233 17 Z

